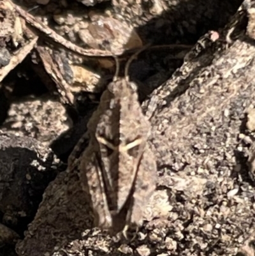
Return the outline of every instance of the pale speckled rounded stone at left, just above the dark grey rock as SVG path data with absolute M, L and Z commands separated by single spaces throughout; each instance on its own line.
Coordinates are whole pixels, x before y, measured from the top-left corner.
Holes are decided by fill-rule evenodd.
M 43 96 L 13 102 L 2 130 L 20 137 L 33 137 L 45 146 L 50 146 L 51 142 L 71 126 L 72 121 L 61 103 Z

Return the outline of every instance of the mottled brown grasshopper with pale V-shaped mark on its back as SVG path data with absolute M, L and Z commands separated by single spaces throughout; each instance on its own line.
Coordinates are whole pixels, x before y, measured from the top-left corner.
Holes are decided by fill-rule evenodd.
M 111 82 L 87 128 L 89 146 L 78 166 L 82 187 L 91 195 L 95 225 L 113 232 L 141 225 L 157 173 L 147 144 L 150 123 L 138 102 L 136 85 L 128 79 Z M 71 156 L 69 168 L 72 162 Z

